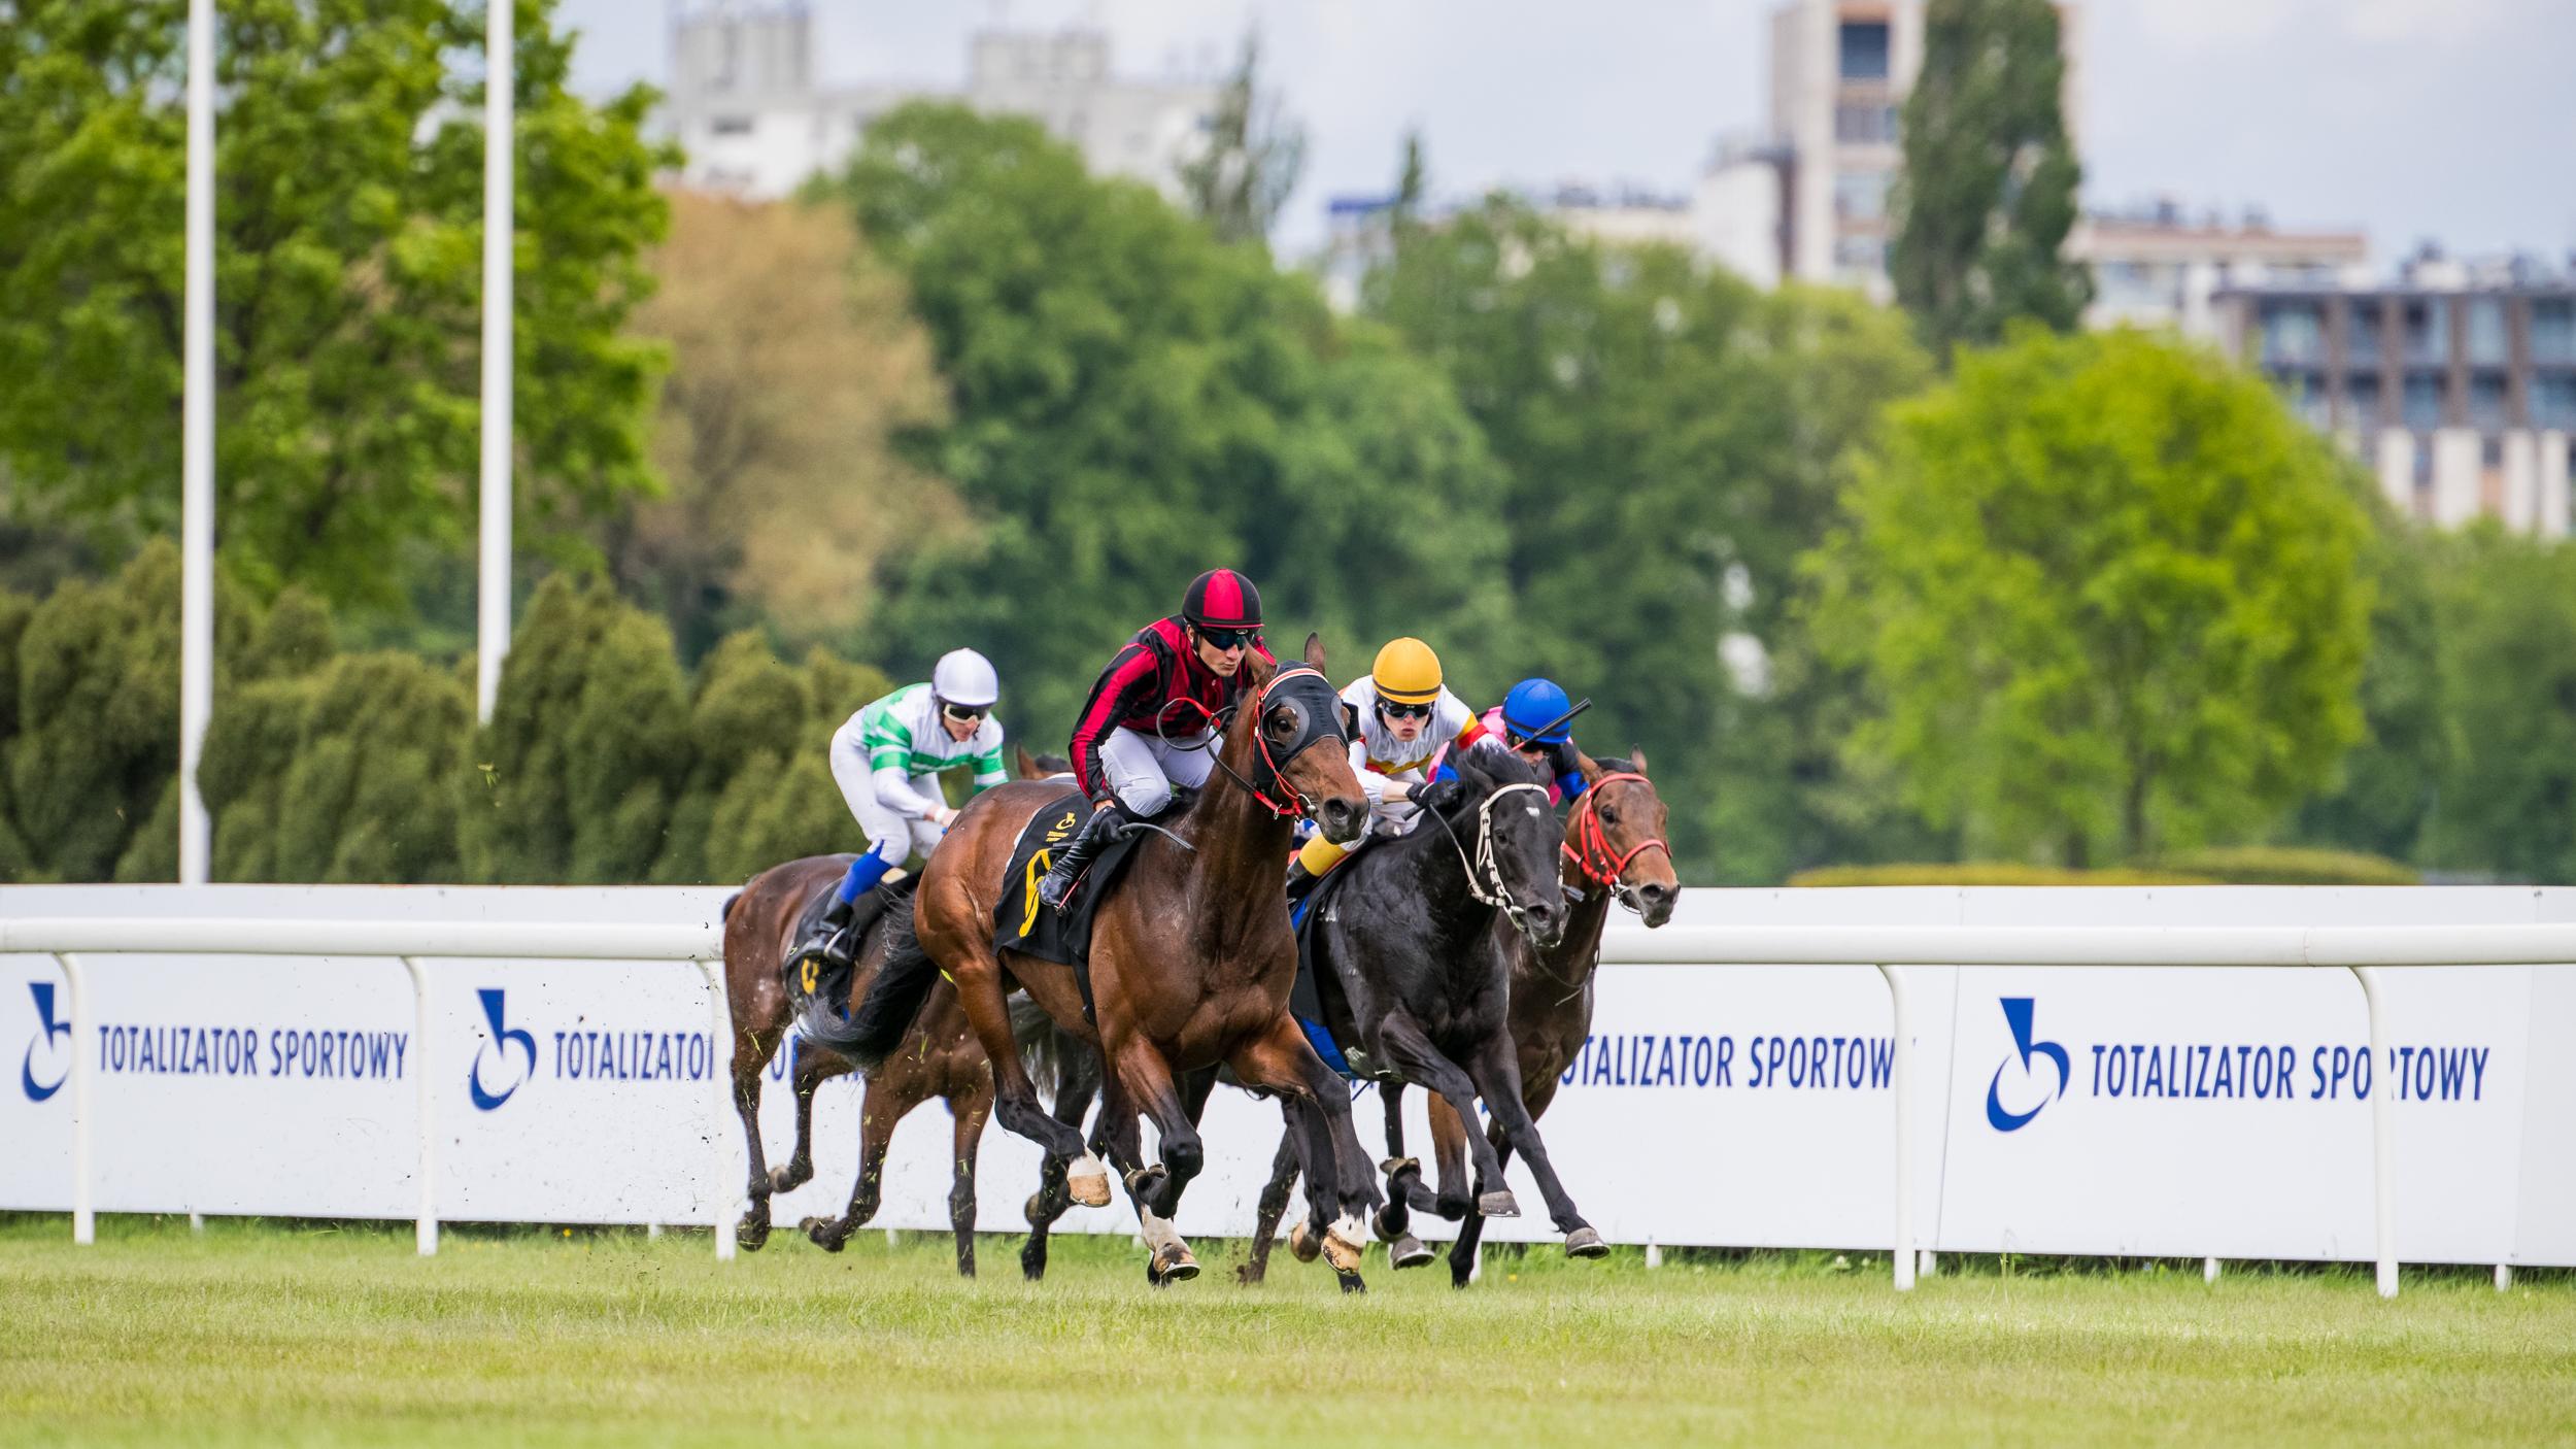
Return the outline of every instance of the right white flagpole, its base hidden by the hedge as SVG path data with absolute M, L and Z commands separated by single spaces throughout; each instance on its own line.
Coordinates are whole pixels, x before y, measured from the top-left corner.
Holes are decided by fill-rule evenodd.
M 510 237 L 513 0 L 484 26 L 484 343 L 482 343 L 482 606 L 474 629 L 474 717 L 492 719 L 510 652 Z

